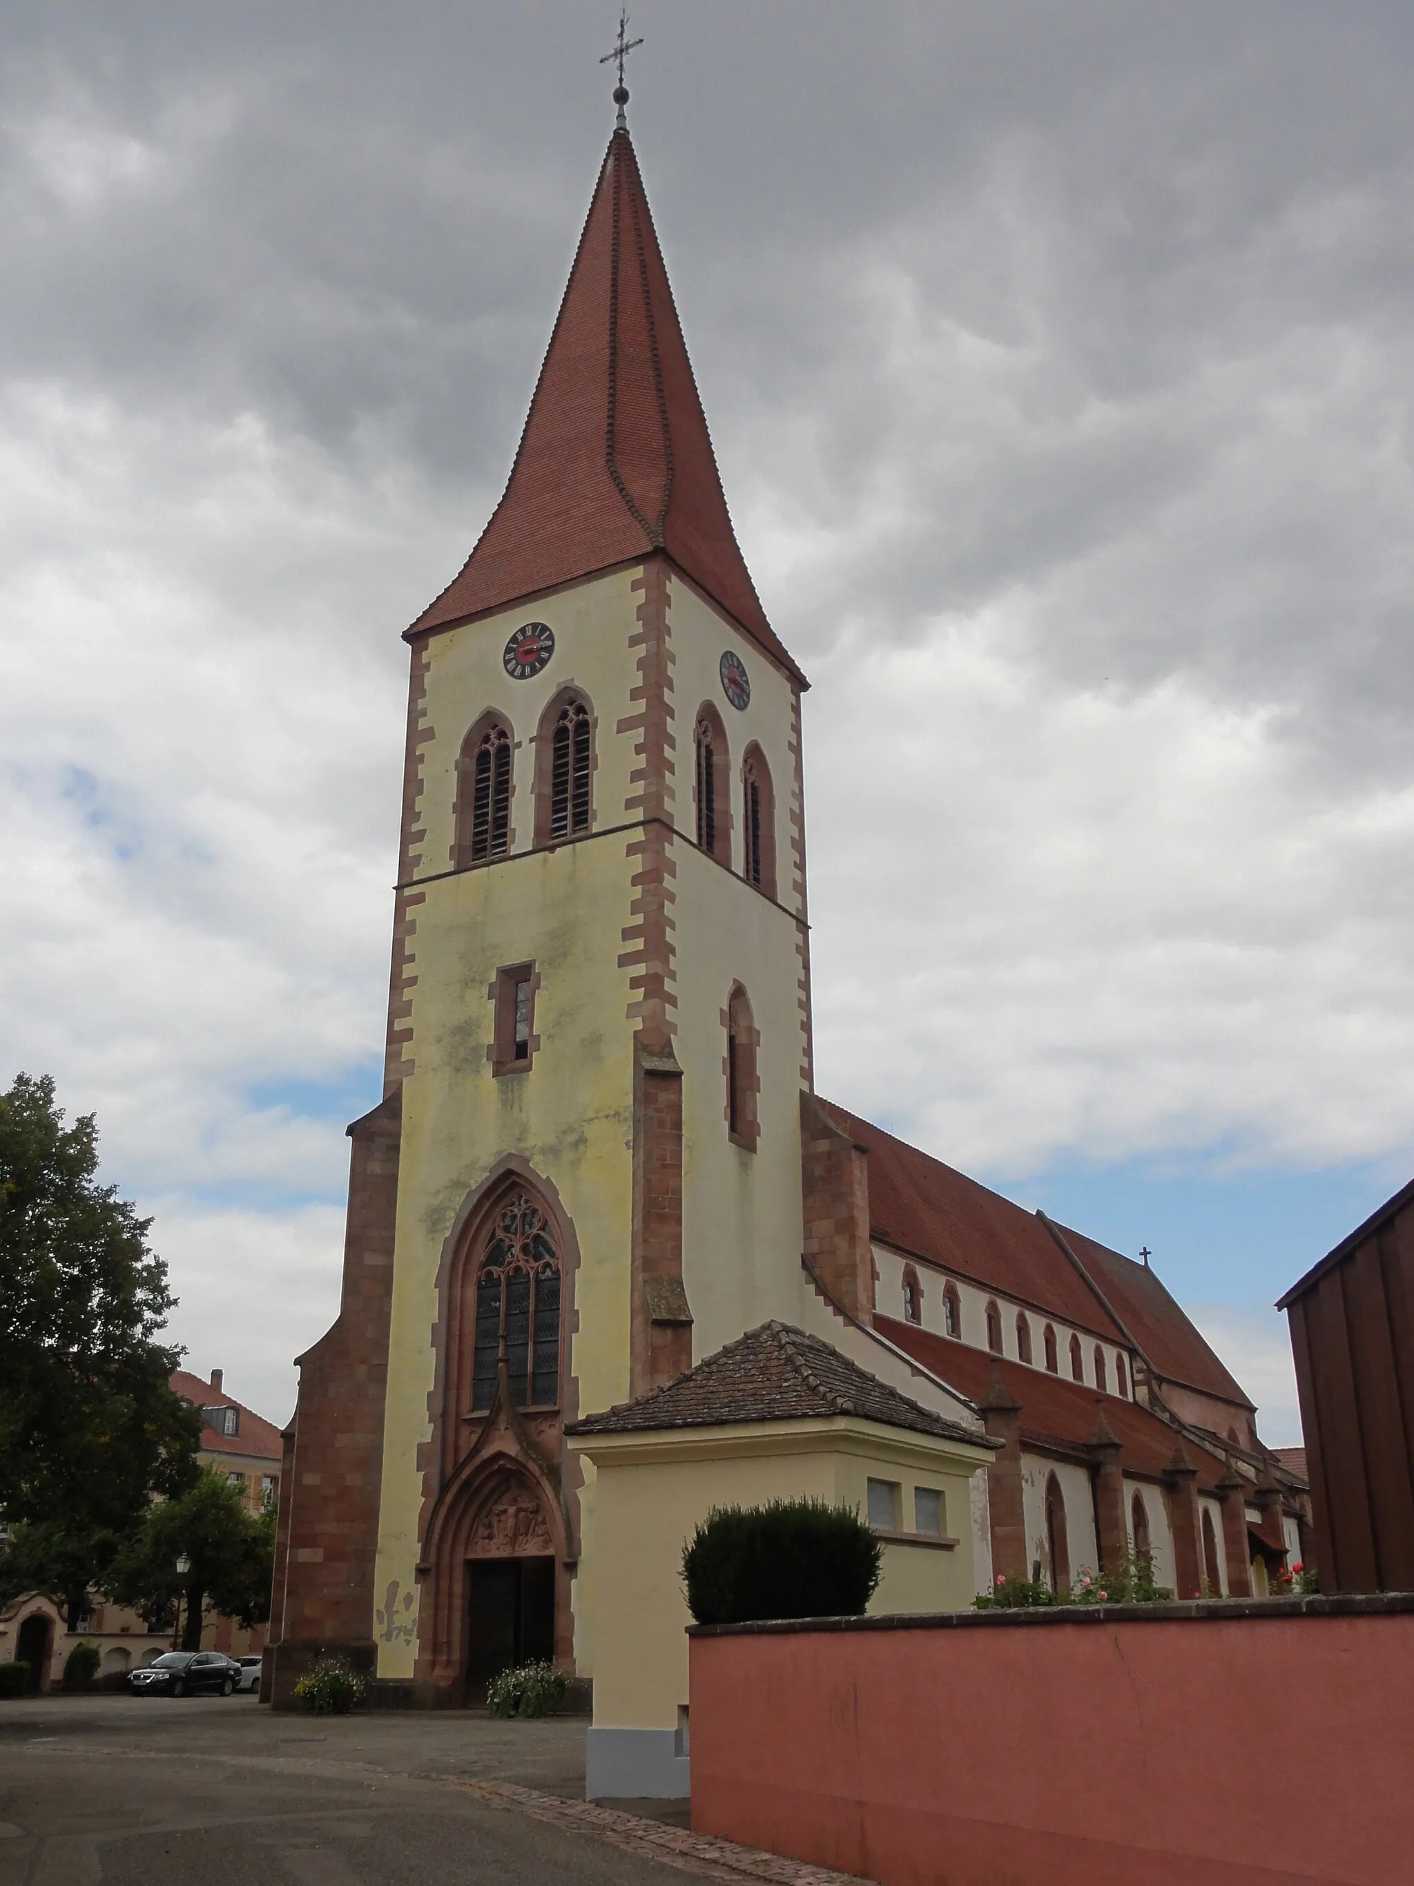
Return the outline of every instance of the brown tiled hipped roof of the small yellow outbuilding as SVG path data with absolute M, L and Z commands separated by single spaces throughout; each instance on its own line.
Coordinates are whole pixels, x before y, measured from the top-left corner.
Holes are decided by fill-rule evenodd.
M 992 1443 L 960 1422 L 920 1407 L 880 1382 L 818 1335 L 788 1322 L 764 1322 L 662 1388 L 569 1422 L 566 1433 L 649 1433 L 758 1420 L 860 1420 L 935 1433 L 971 1447 Z

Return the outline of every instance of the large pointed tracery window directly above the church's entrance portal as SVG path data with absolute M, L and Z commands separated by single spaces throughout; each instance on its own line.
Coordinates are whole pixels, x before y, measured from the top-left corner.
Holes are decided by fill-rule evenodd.
M 526 1192 L 496 1213 L 477 1273 L 473 1413 L 490 1407 L 501 1356 L 511 1407 L 558 1405 L 560 1254 L 545 1213 Z

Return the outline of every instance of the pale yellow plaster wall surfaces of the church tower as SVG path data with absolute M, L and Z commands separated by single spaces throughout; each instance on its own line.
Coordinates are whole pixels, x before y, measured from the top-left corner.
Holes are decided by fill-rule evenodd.
M 375 1590 L 398 1580 L 419 1590 L 417 1526 L 422 1503 L 420 1443 L 432 1433 L 428 1396 L 436 1358 L 437 1273 L 449 1232 L 496 1162 L 518 1154 L 554 1188 L 575 1228 L 579 1269 L 569 1282 L 573 1332 L 569 1367 L 579 1413 L 622 1401 L 630 1388 L 632 1262 L 632 1094 L 635 1020 L 632 969 L 618 968 L 630 945 L 628 856 L 637 817 L 624 802 L 641 792 L 632 773 L 639 734 L 618 722 L 639 713 L 637 570 L 615 571 L 517 605 L 426 645 L 426 711 L 419 824 L 422 902 L 411 907 L 409 941 L 417 977 L 411 998 L 415 1073 L 403 1084 L 398 1230 L 394 1252 L 388 1396 L 385 1414 L 379 1560 Z M 556 653 L 547 668 L 515 681 L 501 651 L 526 620 L 549 622 Z M 777 813 L 777 877 L 790 896 L 792 690 L 784 675 L 739 630 L 684 583 L 669 583 L 669 647 L 675 707 L 677 864 L 673 907 L 677 1056 L 684 1071 L 684 1286 L 694 1311 L 694 1360 L 720 1348 L 767 1316 L 801 1315 L 801 1173 L 797 926 L 752 886 L 692 845 L 692 724 L 701 700 L 715 700 L 728 724 L 741 864 L 741 754 L 760 741 L 771 766 Z M 718 664 L 733 649 L 747 664 L 752 702 L 737 713 Z M 590 837 L 554 851 L 534 845 L 534 745 L 545 709 L 566 687 L 588 698 L 594 736 L 594 824 Z M 513 854 L 485 868 L 451 871 L 456 762 L 468 730 L 498 711 L 515 739 Z M 601 835 L 600 835 L 601 834 Z M 492 1075 L 488 986 L 507 964 L 535 962 L 534 1032 L 528 1069 Z M 758 1071 L 760 1145 L 733 1147 L 726 1133 L 726 1035 L 720 1011 L 732 983 L 748 990 L 762 1035 Z M 581 1496 L 583 1552 L 603 1535 L 594 1514 L 594 1469 Z M 592 1624 L 577 1580 L 575 1652 L 590 1667 Z M 381 1677 L 409 1677 L 417 1643 L 379 1646 Z

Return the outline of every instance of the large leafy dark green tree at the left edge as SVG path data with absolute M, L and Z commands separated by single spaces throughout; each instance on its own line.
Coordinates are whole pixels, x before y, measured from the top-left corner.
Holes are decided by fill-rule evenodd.
M 94 1117 L 64 1126 L 55 1083 L 17 1075 L 0 1094 L 0 1514 L 32 1569 L 53 1548 L 49 1590 L 83 1541 L 102 1556 L 155 1494 L 192 1484 L 202 1435 L 168 1382 L 181 1350 L 158 1341 L 175 1299 L 153 1220 L 96 1173 Z

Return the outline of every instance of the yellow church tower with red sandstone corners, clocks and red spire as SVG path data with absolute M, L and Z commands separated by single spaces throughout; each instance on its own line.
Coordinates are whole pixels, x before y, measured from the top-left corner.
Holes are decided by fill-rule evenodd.
M 407 630 L 383 1103 L 300 1358 L 273 1694 L 581 1673 L 564 1424 L 799 1320 L 799 696 L 613 134 L 505 494 Z

